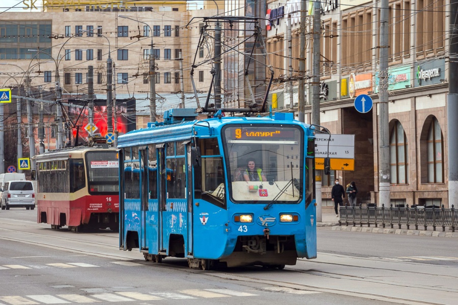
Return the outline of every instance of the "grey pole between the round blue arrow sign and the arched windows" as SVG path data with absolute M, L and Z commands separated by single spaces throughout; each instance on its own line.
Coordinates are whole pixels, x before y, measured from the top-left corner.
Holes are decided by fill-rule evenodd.
M 388 0 L 380 7 L 379 71 L 379 206 L 390 204 L 390 143 L 388 130 Z

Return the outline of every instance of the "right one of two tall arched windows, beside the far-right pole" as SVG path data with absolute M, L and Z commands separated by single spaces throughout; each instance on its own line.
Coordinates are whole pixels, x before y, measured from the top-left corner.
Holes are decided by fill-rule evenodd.
M 433 118 L 428 131 L 428 182 L 444 182 L 444 161 L 442 159 L 442 132 L 439 122 Z

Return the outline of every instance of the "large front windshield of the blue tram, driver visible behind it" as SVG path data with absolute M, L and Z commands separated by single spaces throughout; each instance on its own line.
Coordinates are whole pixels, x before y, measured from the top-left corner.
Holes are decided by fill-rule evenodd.
M 228 190 L 239 203 L 302 198 L 304 133 L 293 125 L 230 125 L 222 131 Z

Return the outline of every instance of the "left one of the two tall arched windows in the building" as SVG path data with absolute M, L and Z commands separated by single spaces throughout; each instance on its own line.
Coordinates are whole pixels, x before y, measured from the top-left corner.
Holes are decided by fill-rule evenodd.
M 409 182 L 409 146 L 406 133 L 399 121 L 395 121 L 390 136 L 390 175 L 391 184 Z

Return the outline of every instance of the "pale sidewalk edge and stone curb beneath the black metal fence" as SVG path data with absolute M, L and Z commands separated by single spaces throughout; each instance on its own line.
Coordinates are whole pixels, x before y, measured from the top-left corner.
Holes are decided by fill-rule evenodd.
M 393 229 L 389 225 L 386 225 L 383 228 L 379 225 L 377 228 L 374 224 L 371 224 L 370 227 L 363 225 L 362 227 L 358 225 L 346 226 L 342 224 L 339 226 L 339 218 L 335 217 L 335 214 L 332 213 L 323 213 L 322 222 L 317 223 L 317 227 L 332 227 L 332 231 L 348 231 L 348 232 L 366 232 L 366 233 L 382 233 L 382 234 L 402 234 L 402 235 L 418 235 L 418 236 L 433 236 L 433 237 L 458 237 L 458 228 L 455 232 L 452 232 L 451 229 L 445 227 L 445 232 L 442 232 L 442 227 L 436 227 L 436 231 L 433 231 L 433 226 L 428 226 L 427 230 L 415 230 L 415 226 L 410 226 L 408 230 L 406 226 L 403 226 L 401 229 L 398 229 L 398 226 L 395 225 Z M 420 229 L 420 227 L 418 227 Z M 423 229 L 423 227 L 421 227 Z

